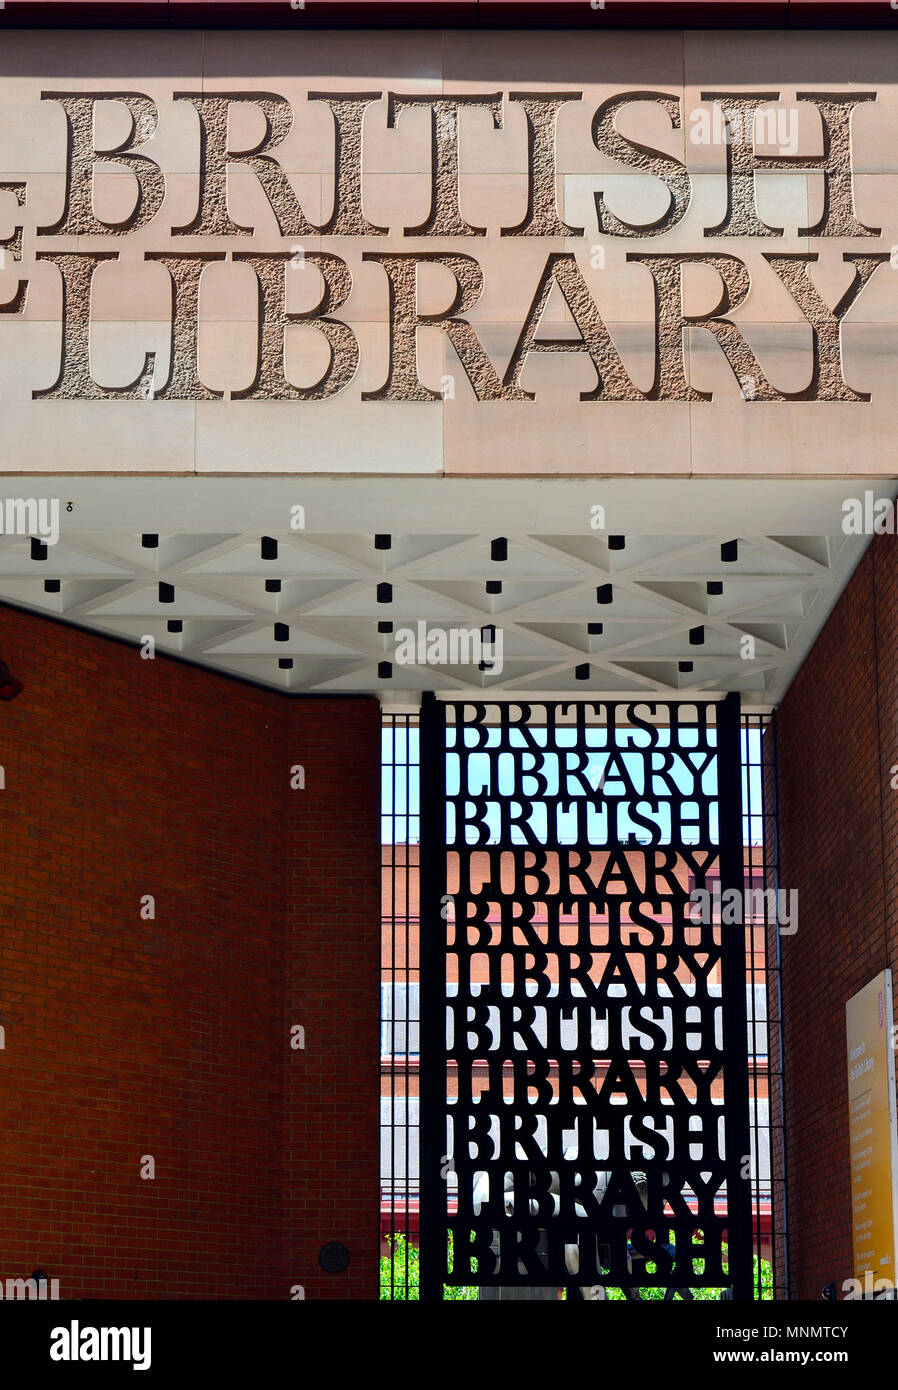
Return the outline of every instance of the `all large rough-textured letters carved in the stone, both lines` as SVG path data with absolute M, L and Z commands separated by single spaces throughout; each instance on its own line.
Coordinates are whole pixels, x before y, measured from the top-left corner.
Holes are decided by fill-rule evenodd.
M 288 138 L 302 111 L 277 93 L 199 93 L 172 92 L 174 103 L 186 103 L 199 122 L 199 167 L 196 177 L 196 214 L 185 224 L 164 228 L 165 250 L 146 249 L 146 236 L 163 225 L 161 208 L 167 192 L 167 174 L 153 157 L 160 113 L 156 101 L 140 92 L 42 92 L 42 100 L 56 103 L 65 118 L 68 150 L 65 157 L 65 195 L 58 218 L 25 234 L 21 210 L 28 207 L 24 181 L 3 182 L 0 190 L 11 193 L 18 210 L 13 232 L 0 239 L 3 265 L 7 271 L 24 264 L 51 263 L 61 281 L 61 349 L 58 375 L 53 385 L 32 391 L 38 400 L 214 400 L 222 391 L 206 386 L 200 377 L 199 302 L 200 281 L 207 265 L 231 261 L 252 270 L 257 285 L 257 359 L 253 379 L 234 389 L 234 400 L 325 400 L 349 388 L 360 361 L 360 339 L 350 325 L 350 314 L 341 316 L 359 274 L 360 263 L 374 263 L 382 272 L 382 313 L 388 335 L 388 366 L 384 381 L 373 391 L 363 391 L 370 402 L 435 402 L 445 391 L 425 385 L 418 373 L 418 329 L 441 331 L 452 343 L 467 377 L 468 389 L 478 402 L 527 402 L 534 392 L 523 385 L 523 374 L 532 353 L 584 353 L 595 368 L 595 385 L 580 393 L 581 400 L 710 400 L 710 392 L 689 382 L 684 328 L 701 327 L 710 332 L 735 378 L 751 382 L 744 389 L 746 402 L 785 400 L 869 400 L 844 378 L 840 328 L 848 310 L 858 302 L 890 250 L 877 246 L 881 229 L 860 221 L 855 208 L 851 167 L 851 118 L 858 106 L 876 101 L 876 92 L 799 92 L 798 103 L 813 108 L 822 128 L 822 154 L 802 156 L 790 143 L 788 153 L 760 153 L 758 122 L 778 93 L 703 92 L 703 101 L 713 101 L 717 126 L 723 133 L 726 171 L 726 211 L 716 225 L 705 227 L 702 249 L 669 252 L 663 239 L 691 207 L 694 175 L 674 156 L 645 143 L 637 143 L 617 129 L 619 114 L 631 103 L 653 103 L 663 113 L 671 131 L 699 126 L 684 125 L 683 100 L 659 92 L 621 92 L 589 110 L 580 92 L 489 92 L 464 96 L 423 96 L 388 92 L 310 92 L 309 104 L 324 103 L 332 113 L 334 143 L 323 152 L 323 172 L 332 171 L 334 200 L 329 215 L 314 222 L 278 160 L 278 149 Z M 129 133 L 113 149 L 95 146 L 95 108 L 114 101 L 129 115 Z M 413 225 L 403 225 L 402 235 L 371 222 L 364 210 L 366 113 L 374 103 L 385 106 L 386 128 L 398 128 L 411 108 L 430 113 L 430 211 Z M 581 103 L 584 121 L 595 149 L 630 171 L 649 175 L 663 185 L 667 208 L 648 224 L 626 221 L 609 210 L 596 174 L 594 192 L 595 227 L 570 225 L 562 215 L 556 190 L 555 131 L 559 111 L 569 103 Z M 264 121 L 264 136 L 249 150 L 231 147 L 228 122 L 235 107 L 254 107 Z M 499 228 L 503 253 L 512 260 L 523 238 L 555 239 L 559 246 L 546 249 L 542 270 L 532 284 L 530 307 L 516 332 L 507 361 L 498 363 L 488 353 L 477 331 L 475 310 L 484 295 L 485 274 L 477 257 L 484 227 L 467 221 L 460 196 L 459 120 L 464 110 L 487 113 L 493 129 L 503 129 L 512 106 L 524 113 L 527 132 L 527 204 L 523 218 Z M 723 115 L 720 115 L 723 113 Z M 373 114 L 371 114 L 373 115 Z M 781 122 L 780 122 L 781 124 Z M 709 126 L 713 129 L 713 125 Z M 774 128 L 776 122 L 774 122 Z M 748 132 L 748 138 L 745 135 Z M 755 132 L 755 133 L 752 133 Z M 735 135 L 738 133 L 738 139 Z M 110 167 L 131 178 L 132 207 L 124 221 L 110 222 L 95 210 L 95 175 Z M 235 220 L 228 199 L 228 174 L 249 171 L 257 179 L 274 215 L 282 243 L 271 249 L 256 246 L 256 228 Z M 822 179 L 819 215 L 798 235 L 819 239 L 865 239 L 860 249 L 833 249 L 845 265 L 847 288 L 835 303 L 816 289 L 812 268 L 819 250 L 781 252 L 777 239 L 781 227 L 763 220 L 756 203 L 755 172 L 792 170 L 812 172 Z M 421 175 L 427 178 L 427 175 Z M 402 210 L 399 210 L 402 217 Z M 405 221 L 405 220 L 403 220 Z M 22 225 L 18 225 L 18 224 Z M 150 232 L 146 229 L 150 228 Z M 146 352 L 142 371 L 126 386 L 100 385 L 90 371 L 90 291 L 99 267 L 120 260 L 118 249 L 86 249 L 85 239 L 110 238 L 118 246 L 135 235 L 145 261 L 160 263 L 171 279 L 171 352 L 165 379 L 158 379 L 156 353 Z M 655 371 L 649 386 L 637 386 L 627 371 L 613 335 L 599 310 L 602 270 L 595 270 L 596 250 L 603 264 L 602 239 L 630 242 L 651 240 L 651 249 L 627 252 L 627 263 L 642 267 L 651 278 L 655 306 Z M 203 249 L 203 238 L 215 238 L 214 249 Z M 221 239 L 232 245 L 221 247 Z M 252 238 L 252 246 L 247 246 Z M 297 239 L 323 240 L 332 249 L 311 249 Z M 343 247 L 342 239 L 346 239 Z M 388 245 L 384 243 L 388 239 Z M 439 249 L 430 249 L 428 239 L 439 239 Z M 445 247 L 446 240 L 457 245 Z M 578 239 L 582 245 L 577 245 Z M 765 272 L 776 277 L 798 306 L 810 328 L 808 385 L 801 391 L 783 391 L 765 375 L 745 335 L 730 317 L 749 293 L 751 277 L 741 256 L 734 254 L 733 240 L 758 239 Z M 197 246 L 199 242 L 199 246 Z M 379 245 L 378 245 L 379 242 Z M 413 242 L 406 249 L 406 243 Z M 421 245 L 424 242 L 424 245 Z M 400 249 L 396 249 L 399 246 Z M 741 245 L 738 247 L 742 249 Z M 26 254 L 28 253 L 28 254 Z M 128 252 L 133 261 L 133 250 Z M 530 264 L 530 261 L 528 261 Z M 684 274 L 692 265 L 710 267 L 719 277 L 719 297 L 713 310 L 703 314 L 684 311 Z M 303 311 L 289 310 L 288 275 L 292 270 L 314 267 L 320 275 L 318 302 Z M 424 311 L 418 302 L 418 270 L 439 265 L 449 272 L 446 303 L 442 311 Z M 15 282 L 14 282 L 15 284 Z M 648 281 L 645 282 L 648 284 Z M 528 286 L 530 288 L 530 286 Z M 26 313 L 29 279 L 18 278 L 11 299 L 0 306 L 3 314 Z M 549 297 L 557 293 L 566 304 L 569 325 L 555 335 L 548 325 L 541 332 Z M 474 314 L 474 321 L 471 320 Z M 317 379 L 297 385 L 285 367 L 285 345 L 291 325 L 313 328 L 327 348 L 327 366 Z

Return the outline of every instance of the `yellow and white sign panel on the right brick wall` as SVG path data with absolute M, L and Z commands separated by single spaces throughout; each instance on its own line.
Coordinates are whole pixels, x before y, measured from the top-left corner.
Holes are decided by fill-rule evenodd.
M 883 970 L 848 1001 L 845 1027 L 855 1279 L 879 1293 L 895 1286 L 898 1251 L 891 970 Z

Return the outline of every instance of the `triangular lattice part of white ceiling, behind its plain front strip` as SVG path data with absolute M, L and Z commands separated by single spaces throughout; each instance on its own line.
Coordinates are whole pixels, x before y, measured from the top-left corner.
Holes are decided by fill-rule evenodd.
M 500 528 L 500 514 L 473 507 L 435 507 L 432 520 L 456 524 L 403 532 L 400 506 L 389 531 L 235 528 L 246 518 L 234 506 L 209 530 L 152 531 L 152 505 L 147 530 L 126 518 L 79 530 L 88 512 L 65 517 L 46 550 L 0 537 L 0 599 L 133 644 L 152 635 L 157 651 L 278 689 L 377 692 L 399 706 L 423 689 L 738 689 L 776 705 L 863 548 L 833 509 L 828 534 L 741 534 L 728 506 L 719 530 L 677 535 L 564 534 L 549 512 L 545 530 Z M 460 528 L 462 516 L 493 525 Z M 418 621 L 495 626 L 502 670 L 400 663 L 396 634 Z

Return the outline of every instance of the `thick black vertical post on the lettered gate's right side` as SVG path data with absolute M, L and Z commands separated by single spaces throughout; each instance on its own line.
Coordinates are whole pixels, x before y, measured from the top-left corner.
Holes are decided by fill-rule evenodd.
M 720 892 L 734 888 L 745 902 L 745 851 L 742 845 L 742 727 L 738 694 L 727 695 L 717 720 L 717 816 L 720 837 Z M 745 922 L 720 924 L 723 1052 L 726 1076 L 727 1244 L 733 1297 L 753 1298 L 752 1183 L 745 1177 L 751 1156 L 748 1012 L 745 1001 Z

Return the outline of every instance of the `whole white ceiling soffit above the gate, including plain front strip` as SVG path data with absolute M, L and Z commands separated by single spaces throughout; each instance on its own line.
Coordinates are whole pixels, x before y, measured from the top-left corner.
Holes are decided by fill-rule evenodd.
M 58 499 L 60 535 L 42 557 L 28 537 L 0 534 L 0 600 L 135 645 L 153 637 L 274 689 L 377 694 L 391 709 L 432 689 L 740 691 L 744 708 L 767 710 L 869 543 L 842 531 L 842 503 L 865 489 L 891 498 L 898 485 L 8 475 L 4 517 L 7 499 Z M 733 541 L 735 559 L 721 557 Z M 502 660 L 399 660 L 399 630 L 417 638 L 418 623 L 487 627 L 485 639 L 496 628 L 502 646 L 487 655 Z

